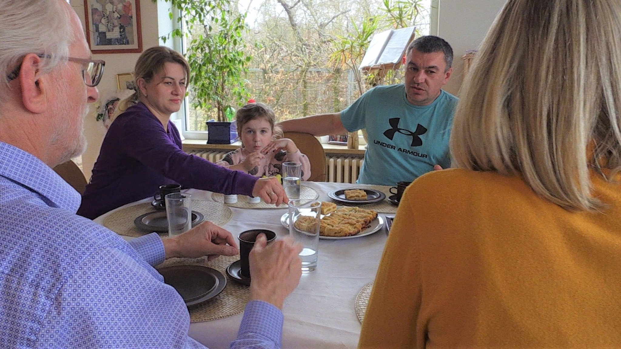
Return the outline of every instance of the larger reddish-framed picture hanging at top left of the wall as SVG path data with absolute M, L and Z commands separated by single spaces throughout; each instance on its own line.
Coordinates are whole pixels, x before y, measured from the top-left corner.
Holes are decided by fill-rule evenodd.
M 86 41 L 93 53 L 140 53 L 140 0 L 84 0 Z

